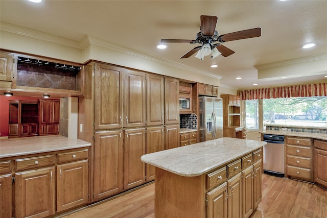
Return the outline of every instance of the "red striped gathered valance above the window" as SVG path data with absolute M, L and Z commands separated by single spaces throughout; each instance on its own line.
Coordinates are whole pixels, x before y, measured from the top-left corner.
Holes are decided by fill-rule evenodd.
M 241 100 L 327 96 L 327 83 L 239 91 Z

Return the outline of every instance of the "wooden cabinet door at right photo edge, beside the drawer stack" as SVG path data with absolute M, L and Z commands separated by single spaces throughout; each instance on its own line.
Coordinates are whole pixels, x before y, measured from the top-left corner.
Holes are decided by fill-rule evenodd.
M 314 181 L 327 187 L 327 151 L 314 149 Z

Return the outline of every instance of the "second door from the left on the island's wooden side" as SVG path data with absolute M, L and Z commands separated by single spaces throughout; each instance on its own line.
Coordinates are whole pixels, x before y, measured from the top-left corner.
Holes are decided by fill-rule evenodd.
M 242 173 L 227 180 L 227 216 L 228 218 L 242 217 Z

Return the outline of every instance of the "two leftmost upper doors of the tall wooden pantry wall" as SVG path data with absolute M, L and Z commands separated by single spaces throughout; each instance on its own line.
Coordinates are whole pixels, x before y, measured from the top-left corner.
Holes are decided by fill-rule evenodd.
M 145 127 L 145 78 L 144 72 L 95 64 L 96 130 Z

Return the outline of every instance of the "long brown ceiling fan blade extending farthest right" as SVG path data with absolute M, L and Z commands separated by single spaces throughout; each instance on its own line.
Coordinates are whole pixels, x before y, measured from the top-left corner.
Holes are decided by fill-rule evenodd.
M 233 40 L 247 39 L 247 38 L 259 37 L 259 36 L 261 36 L 261 28 L 257 27 L 249 30 L 242 30 L 238 32 L 221 35 L 218 37 L 218 41 L 228 42 Z

